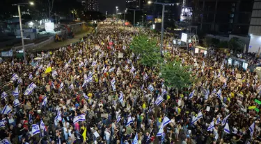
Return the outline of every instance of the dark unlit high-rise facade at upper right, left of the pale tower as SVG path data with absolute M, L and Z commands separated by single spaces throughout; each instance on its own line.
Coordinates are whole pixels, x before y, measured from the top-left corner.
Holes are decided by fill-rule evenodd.
M 193 21 L 206 33 L 248 34 L 253 0 L 198 0 Z

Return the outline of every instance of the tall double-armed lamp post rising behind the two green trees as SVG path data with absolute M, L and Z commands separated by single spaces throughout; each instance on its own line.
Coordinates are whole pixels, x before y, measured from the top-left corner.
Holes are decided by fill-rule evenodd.
M 148 4 L 151 4 L 152 1 L 148 1 Z M 163 34 L 164 34 L 164 17 L 165 17 L 165 6 L 174 6 L 179 5 L 180 3 L 159 3 L 155 2 L 155 4 L 162 5 L 162 17 L 161 17 L 161 40 L 160 40 L 160 54 L 163 55 L 162 49 L 163 49 Z

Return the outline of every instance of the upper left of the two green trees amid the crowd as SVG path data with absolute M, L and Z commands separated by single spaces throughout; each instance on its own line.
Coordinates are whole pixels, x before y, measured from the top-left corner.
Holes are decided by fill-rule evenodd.
M 162 62 L 157 40 L 147 35 L 134 37 L 130 48 L 136 55 L 141 55 L 141 64 L 145 66 L 157 66 Z

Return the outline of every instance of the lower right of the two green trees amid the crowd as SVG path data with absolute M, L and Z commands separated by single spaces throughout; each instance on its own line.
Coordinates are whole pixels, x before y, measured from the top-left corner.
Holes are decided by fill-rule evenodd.
M 161 78 L 168 87 L 182 89 L 192 84 L 190 66 L 180 66 L 180 61 L 172 61 L 161 66 Z

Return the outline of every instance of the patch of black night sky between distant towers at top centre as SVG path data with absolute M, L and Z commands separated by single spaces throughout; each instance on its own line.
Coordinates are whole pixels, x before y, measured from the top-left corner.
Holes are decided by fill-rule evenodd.
M 119 12 L 123 12 L 126 8 L 126 0 L 98 0 L 100 5 L 100 12 L 104 13 L 108 11 L 108 15 L 116 13 L 116 6 L 119 8 Z

